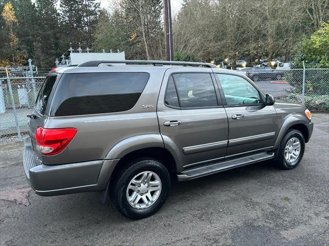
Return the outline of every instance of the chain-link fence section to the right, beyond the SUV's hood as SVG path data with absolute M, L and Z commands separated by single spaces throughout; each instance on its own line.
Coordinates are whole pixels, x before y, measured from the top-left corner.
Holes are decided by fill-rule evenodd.
M 310 111 L 329 111 L 329 69 L 253 68 L 242 72 L 276 99 L 303 104 Z

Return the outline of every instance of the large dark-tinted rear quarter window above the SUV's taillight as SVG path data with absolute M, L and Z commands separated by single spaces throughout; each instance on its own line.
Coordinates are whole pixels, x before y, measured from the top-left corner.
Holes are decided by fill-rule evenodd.
M 113 113 L 137 103 L 149 73 L 64 74 L 52 100 L 54 116 Z

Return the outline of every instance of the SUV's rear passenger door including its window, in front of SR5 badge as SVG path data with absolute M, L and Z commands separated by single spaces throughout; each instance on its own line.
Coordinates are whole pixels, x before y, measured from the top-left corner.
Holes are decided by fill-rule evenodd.
M 178 172 L 223 159 L 228 122 L 209 68 L 171 68 L 163 77 L 157 104 L 166 148 L 178 152 Z

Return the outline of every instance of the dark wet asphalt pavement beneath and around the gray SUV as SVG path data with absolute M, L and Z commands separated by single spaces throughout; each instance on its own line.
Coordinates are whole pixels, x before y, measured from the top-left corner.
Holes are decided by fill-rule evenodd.
M 129 220 L 98 193 L 35 195 L 22 143 L 1 145 L 1 245 L 328 245 L 329 114 L 299 167 L 268 162 L 175 182 L 155 215 Z

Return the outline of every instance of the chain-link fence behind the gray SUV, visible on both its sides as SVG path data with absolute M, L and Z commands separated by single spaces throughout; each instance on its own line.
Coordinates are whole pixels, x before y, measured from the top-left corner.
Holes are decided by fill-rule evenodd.
M 329 69 L 251 69 L 246 74 L 276 99 L 304 104 L 310 111 L 329 111 Z M 27 134 L 27 114 L 45 76 L 0 78 L 1 142 L 22 140 Z

